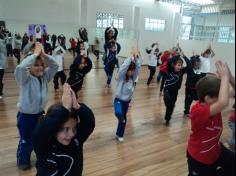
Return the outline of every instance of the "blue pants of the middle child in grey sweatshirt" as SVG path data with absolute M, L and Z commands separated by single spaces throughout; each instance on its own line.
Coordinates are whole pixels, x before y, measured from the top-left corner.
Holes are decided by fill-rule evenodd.
M 126 123 L 127 123 L 126 114 L 129 109 L 129 103 L 130 103 L 130 101 L 125 102 L 125 101 L 119 100 L 117 98 L 114 101 L 115 115 L 118 119 L 118 127 L 117 127 L 117 131 L 116 131 L 116 135 L 118 137 L 124 137 L 125 127 L 126 127 Z

